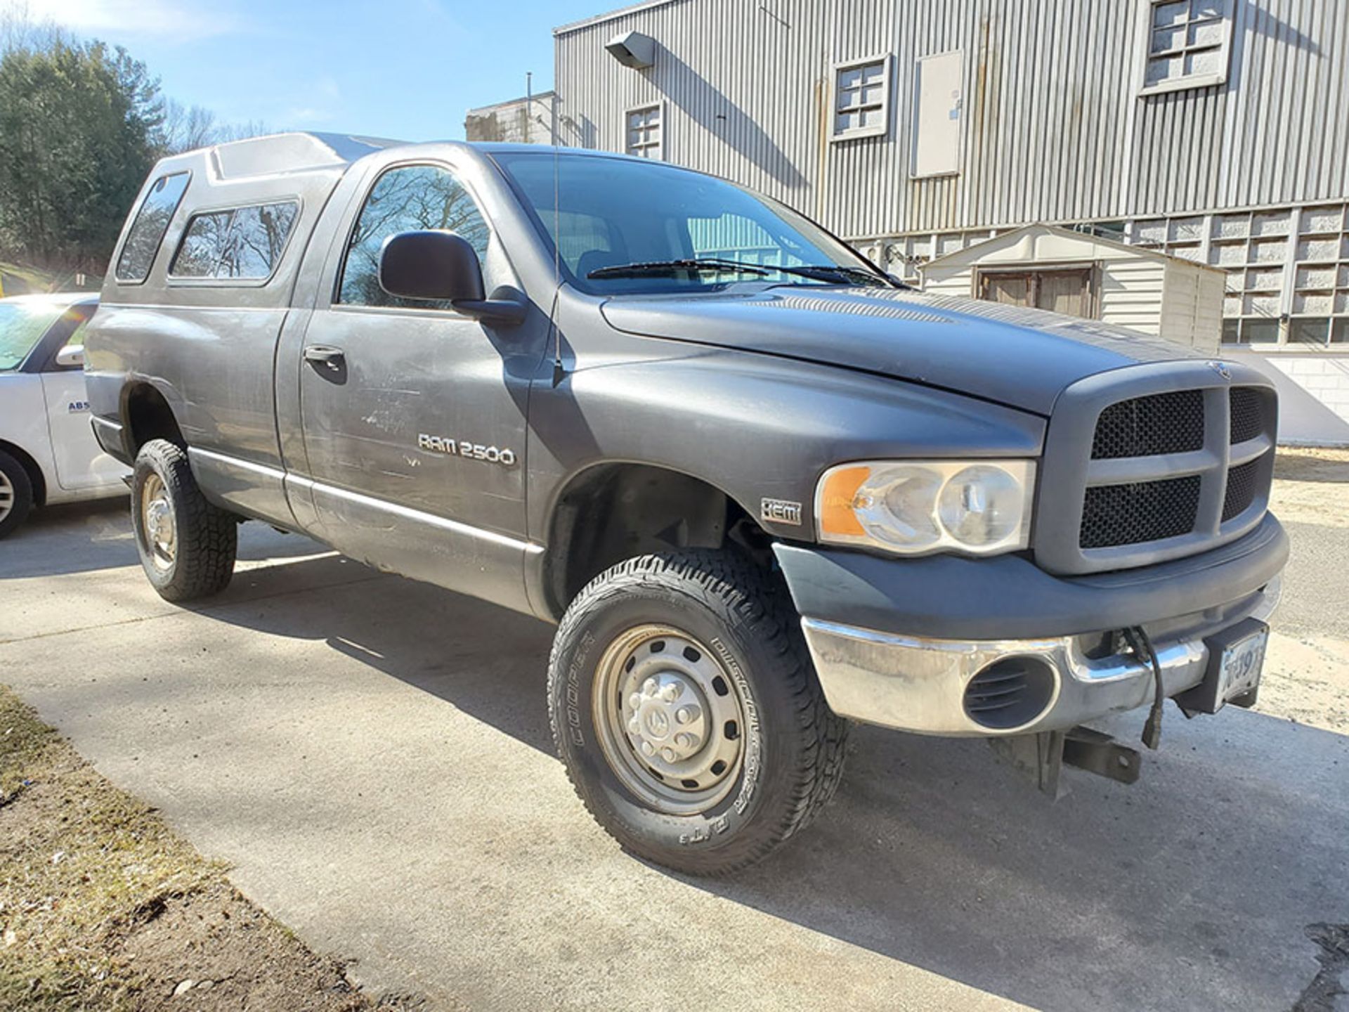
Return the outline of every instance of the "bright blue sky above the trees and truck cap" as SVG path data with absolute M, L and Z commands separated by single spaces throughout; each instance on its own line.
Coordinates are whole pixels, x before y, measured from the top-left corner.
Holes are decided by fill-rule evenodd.
M 125 46 L 231 123 L 461 139 L 464 112 L 552 86 L 558 24 L 629 0 L 0 0 Z

